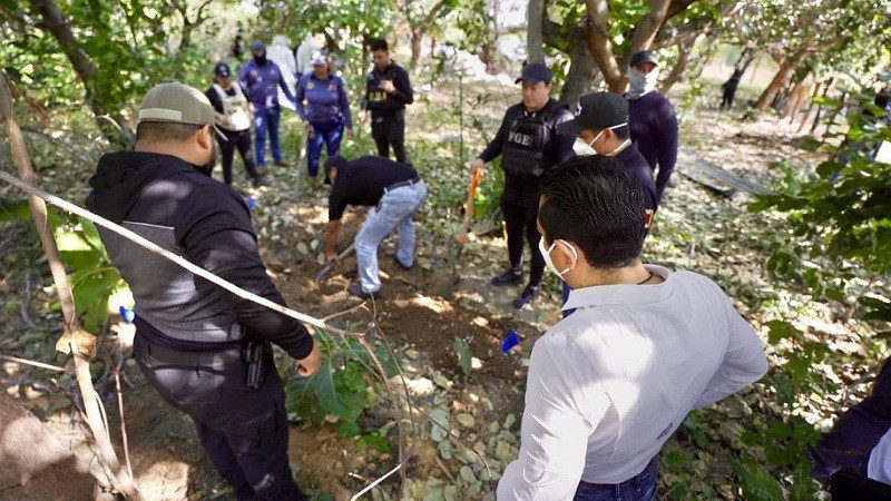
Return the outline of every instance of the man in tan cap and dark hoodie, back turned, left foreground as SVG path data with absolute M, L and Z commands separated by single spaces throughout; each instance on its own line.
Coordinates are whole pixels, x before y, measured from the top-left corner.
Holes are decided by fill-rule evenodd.
M 87 207 L 233 284 L 284 305 L 257 253 L 245 203 L 210 178 L 214 108 L 182 84 L 148 91 L 136 151 L 104 155 Z M 300 322 L 224 292 L 117 234 L 99 229 L 136 299 L 134 356 L 164 400 L 195 422 L 238 500 L 303 500 L 287 460 L 277 344 L 319 370 L 319 345 Z

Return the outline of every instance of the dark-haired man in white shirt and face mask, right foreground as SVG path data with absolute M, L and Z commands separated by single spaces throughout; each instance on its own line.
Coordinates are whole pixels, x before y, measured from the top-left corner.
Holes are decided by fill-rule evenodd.
M 767 371 L 761 340 L 711 279 L 644 265 L 640 187 L 614 158 L 544 175 L 540 252 L 572 292 L 532 350 L 508 500 L 649 500 L 656 455 L 696 407 Z

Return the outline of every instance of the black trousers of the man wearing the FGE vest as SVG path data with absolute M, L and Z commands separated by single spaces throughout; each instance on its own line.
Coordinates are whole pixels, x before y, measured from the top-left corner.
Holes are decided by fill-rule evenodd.
M 505 226 L 508 233 L 508 257 L 510 267 L 520 269 L 522 266 L 523 235 L 532 252 L 532 262 L 529 265 L 529 285 L 537 287 L 545 275 L 545 258 L 538 250 L 538 196 L 501 195 L 501 212 L 505 214 Z

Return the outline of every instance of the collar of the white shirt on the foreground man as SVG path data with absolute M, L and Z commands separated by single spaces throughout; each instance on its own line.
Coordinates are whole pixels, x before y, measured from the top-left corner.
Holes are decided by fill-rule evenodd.
M 569 293 L 564 310 L 610 304 L 648 304 L 668 297 L 673 288 L 672 272 L 657 265 L 644 265 L 644 267 L 654 275 L 663 277 L 665 282 L 655 285 L 615 284 L 576 288 Z

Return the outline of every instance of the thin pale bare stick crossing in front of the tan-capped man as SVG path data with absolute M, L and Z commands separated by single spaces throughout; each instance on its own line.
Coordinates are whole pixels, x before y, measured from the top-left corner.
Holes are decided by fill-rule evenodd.
M 340 328 L 336 328 L 336 327 L 332 327 L 331 325 L 326 324 L 324 321 L 321 321 L 321 320 L 315 318 L 313 316 L 310 316 L 310 315 L 300 313 L 297 311 L 291 310 L 287 306 L 282 306 L 278 303 L 273 303 L 272 301 L 270 301 L 270 299 L 267 299 L 265 297 L 262 297 L 262 296 L 258 296 L 258 295 L 256 295 L 256 294 L 254 294 L 252 292 L 245 291 L 242 287 L 238 287 L 237 285 L 235 285 L 235 284 L 233 284 L 233 283 L 231 283 L 231 282 L 228 282 L 228 281 L 226 281 L 224 278 L 221 278 L 221 277 L 214 275 L 213 273 L 202 268 L 200 266 L 197 266 L 197 265 L 193 264 L 192 262 L 187 261 L 186 258 L 184 258 L 182 256 L 178 256 L 178 255 L 176 255 L 176 254 L 174 254 L 174 253 L 172 253 L 172 252 L 169 252 L 169 250 L 167 250 L 165 248 L 161 248 L 160 246 L 158 246 L 157 244 L 153 243 L 151 240 L 148 240 L 148 239 L 137 235 L 136 233 L 130 232 L 129 229 L 127 229 L 127 228 L 125 228 L 125 227 L 123 227 L 123 226 L 120 226 L 118 224 L 115 224 L 115 223 L 112 223 L 112 222 L 110 222 L 110 220 L 108 220 L 108 219 L 106 219 L 106 218 L 104 218 L 101 216 L 97 216 L 96 214 L 92 214 L 91 212 L 89 212 L 89 210 L 87 210 L 85 208 L 81 208 L 81 207 L 79 207 L 79 206 L 77 206 L 75 204 L 71 204 L 70 202 L 67 202 L 67 200 L 65 200 L 62 198 L 59 198 L 59 197 L 57 197 L 57 196 L 55 196 L 55 195 L 52 195 L 52 194 L 50 194 L 48 191 L 45 191 L 45 190 L 42 190 L 40 188 L 31 186 L 28 183 L 21 180 L 20 178 L 13 176 L 12 174 L 9 174 L 7 171 L 0 170 L 0 179 L 11 184 L 12 186 L 16 186 L 16 187 L 22 189 L 22 190 L 25 190 L 25 191 L 27 191 L 27 193 L 29 193 L 31 195 L 38 196 L 38 197 L 45 199 L 46 202 L 48 202 L 48 203 L 50 203 L 50 204 L 52 204 L 52 205 L 55 205 L 57 207 L 60 207 L 60 208 L 62 208 L 65 210 L 68 210 L 69 213 L 74 213 L 74 214 L 77 214 L 78 216 L 80 216 L 80 217 L 82 217 L 85 219 L 89 219 L 92 223 L 95 223 L 95 224 L 97 224 L 97 225 L 99 225 L 99 226 L 101 226 L 101 227 L 104 227 L 106 229 L 109 229 L 109 230 L 123 236 L 124 238 L 127 238 L 128 240 L 130 240 L 130 242 L 133 242 L 133 243 L 135 243 L 135 244 L 137 244 L 137 245 L 139 245 L 141 247 L 145 247 L 145 248 L 151 250 L 155 254 L 160 255 L 164 258 L 166 258 L 166 259 L 168 259 L 168 261 L 170 261 L 173 263 L 176 263 L 178 266 L 192 272 L 193 274 L 195 274 L 195 275 L 197 275 L 197 276 L 199 276 L 199 277 L 202 277 L 202 278 L 204 278 L 204 279 L 206 279 L 208 282 L 212 282 L 212 283 L 225 288 L 226 291 L 228 291 L 228 292 L 231 292 L 231 293 L 233 293 L 233 294 L 235 294 L 237 296 L 241 296 L 241 297 L 243 297 L 245 299 L 253 301 L 254 303 L 263 305 L 263 306 L 265 306 L 265 307 L 267 307 L 270 310 L 276 311 L 276 312 L 278 312 L 278 313 L 281 313 L 283 315 L 287 315 L 287 316 L 290 316 L 292 318 L 296 318 L 296 320 L 298 320 L 301 322 L 304 322 L 306 324 L 313 325 L 315 327 L 324 328 L 324 330 L 326 330 L 329 332 L 332 332 L 332 333 L 335 333 L 335 334 L 354 335 L 354 336 L 361 336 L 362 335 L 362 334 L 347 333 L 346 331 L 343 331 L 343 330 L 340 330 Z

